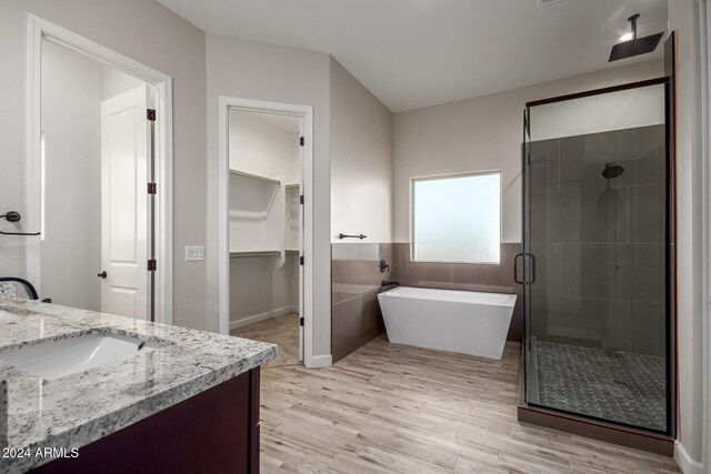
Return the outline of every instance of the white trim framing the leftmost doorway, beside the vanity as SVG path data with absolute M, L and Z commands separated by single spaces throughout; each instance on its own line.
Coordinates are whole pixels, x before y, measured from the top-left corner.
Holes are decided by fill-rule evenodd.
M 173 322 L 173 238 L 172 238 L 172 180 L 173 180 L 173 113 L 172 78 L 148 65 L 112 51 L 99 43 L 73 33 L 42 18 L 29 14 L 29 57 L 28 61 L 28 209 L 32 225 L 39 224 L 39 173 L 41 138 L 41 68 L 42 39 L 54 41 L 93 60 L 108 64 L 133 75 L 156 89 L 156 137 L 154 167 L 158 194 L 156 195 L 156 321 L 164 324 Z M 32 253 L 32 252 L 31 252 Z M 28 262 L 28 275 L 39 272 L 39 261 Z M 39 282 L 39 275 L 32 278 Z

